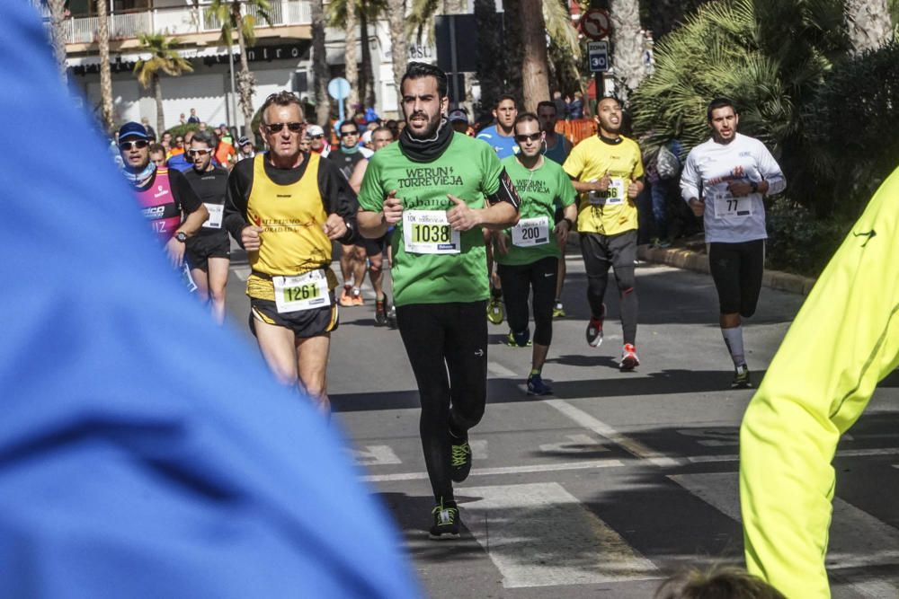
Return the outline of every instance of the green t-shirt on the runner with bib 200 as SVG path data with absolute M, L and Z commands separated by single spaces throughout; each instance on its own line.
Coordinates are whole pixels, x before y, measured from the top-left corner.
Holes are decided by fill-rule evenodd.
M 518 266 L 544 258 L 560 258 L 562 251 L 553 233 L 556 208 L 574 204 L 577 192 L 571 178 L 560 164 L 547 158 L 534 171 L 522 166 L 516 156 L 503 158 L 503 166 L 521 198 L 521 221 L 514 229 L 504 231 L 509 251 L 506 254 L 494 251 L 494 260 L 497 264 Z

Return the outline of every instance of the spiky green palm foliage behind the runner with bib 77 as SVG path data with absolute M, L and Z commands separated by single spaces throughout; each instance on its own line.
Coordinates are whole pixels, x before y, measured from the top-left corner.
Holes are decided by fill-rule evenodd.
M 811 207 L 819 195 L 819 148 L 805 107 L 835 61 L 846 56 L 841 0 L 719 0 L 699 7 L 655 45 L 655 70 L 632 96 L 637 135 L 651 145 L 708 138 L 706 106 L 732 98 L 740 129 L 778 157 L 790 197 Z

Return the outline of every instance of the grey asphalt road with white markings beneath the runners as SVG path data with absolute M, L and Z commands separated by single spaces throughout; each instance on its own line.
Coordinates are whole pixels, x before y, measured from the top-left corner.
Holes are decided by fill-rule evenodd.
M 246 330 L 248 270 L 235 258 L 228 309 Z M 589 348 L 583 264 L 576 255 L 567 264 L 568 316 L 555 322 L 544 368 L 554 396 L 525 394 L 530 349 L 503 346 L 508 329 L 490 327 L 488 405 L 471 431 L 474 468 L 456 486 L 465 525 L 458 542 L 427 539 L 431 489 L 399 334 L 374 326 L 370 299 L 342 309 L 328 371 L 334 422 L 396 518 L 427 595 L 651 597 L 683 565 L 742 560 L 737 435 L 752 391 L 729 389 L 711 280 L 638 267 L 642 364 L 620 373 L 614 285 L 605 341 Z M 801 302 L 762 290 L 744 333 L 755 381 Z M 895 375 L 880 385 L 834 462 L 834 597 L 899 597 L 897 386 Z

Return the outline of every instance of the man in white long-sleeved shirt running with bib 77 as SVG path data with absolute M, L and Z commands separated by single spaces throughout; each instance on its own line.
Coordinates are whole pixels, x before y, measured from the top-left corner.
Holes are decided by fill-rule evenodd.
M 755 313 L 765 267 L 763 198 L 780 193 L 787 180 L 768 148 L 736 132 L 734 103 L 708 104 L 712 138 L 694 147 L 681 172 L 681 196 L 703 216 L 708 265 L 718 292 L 721 333 L 734 360 L 731 387 L 752 386 L 743 350 L 742 318 Z

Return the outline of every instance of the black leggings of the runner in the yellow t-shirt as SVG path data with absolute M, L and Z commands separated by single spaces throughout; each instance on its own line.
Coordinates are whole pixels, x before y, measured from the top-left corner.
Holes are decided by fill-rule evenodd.
M 621 298 L 621 330 L 625 343 L 636 343 L 636 231 L 618 235 L 581 233 L 583 267 L 587 271 L 587 303 L 594 318 L 605 316 L 602 299 L 609 285 L 609 267 L 615 272 Z

